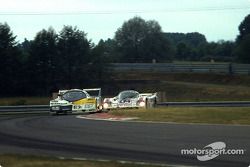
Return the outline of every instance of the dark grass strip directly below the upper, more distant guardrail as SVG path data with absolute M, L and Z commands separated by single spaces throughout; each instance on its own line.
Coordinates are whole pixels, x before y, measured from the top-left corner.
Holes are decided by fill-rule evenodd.
M 218 85 L 250 86 L 250 75 L 226 75 L 214 73 L 161 73 L 161 72 L 120 72 L 114 73 L 114 80 L 179 81 L 209 83 Z

